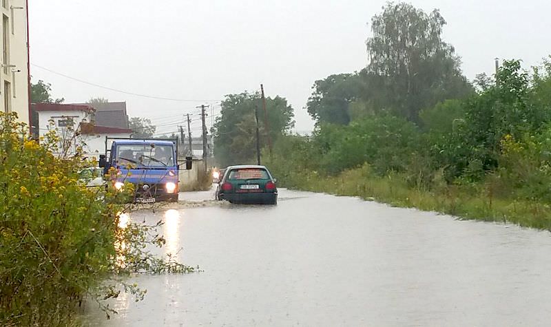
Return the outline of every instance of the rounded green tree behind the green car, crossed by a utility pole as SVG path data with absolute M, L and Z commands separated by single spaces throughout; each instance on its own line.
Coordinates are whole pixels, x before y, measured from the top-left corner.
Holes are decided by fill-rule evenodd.
M 222 101 L 221 116 L 216 118 L 212 129 L 214 156 L 221 166 L 255 162 L 256 119 L 258 110 L 260 144 L 267 145 L 267 131 L 264 128 L 264 112 L 259 94 L 229 94 Z M 285 98 L 266 98 L 269 136 L 273 142 L 293 127 L 293 108 Z

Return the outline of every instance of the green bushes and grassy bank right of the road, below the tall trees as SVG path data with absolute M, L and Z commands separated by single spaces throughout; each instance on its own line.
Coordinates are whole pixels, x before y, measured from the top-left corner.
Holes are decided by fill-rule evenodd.
M 476 84 L 469 98 L 424 107 L 421 128 L 351 98 L 338 107 L 348 125 L 318 114 L 313 136 L 280 138 L 268 164 L 285 187 L 551 230 L 550 61 L 531 75 L 504 61 L 495 83 Z

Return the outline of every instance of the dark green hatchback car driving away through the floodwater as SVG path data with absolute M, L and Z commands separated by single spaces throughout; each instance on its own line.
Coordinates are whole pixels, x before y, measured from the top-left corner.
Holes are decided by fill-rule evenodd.
M 264 166 L 230 166 L 218 183 L 216 199 L 231 203 L 278 204 L 275 182 Z

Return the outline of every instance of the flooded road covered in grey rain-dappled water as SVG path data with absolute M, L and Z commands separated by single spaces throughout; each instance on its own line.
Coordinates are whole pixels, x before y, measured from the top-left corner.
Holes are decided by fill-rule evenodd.
M 190 194 L 201 200 L 209 193 Z M 185 199 L 187 194 L 183 196 Z M 280 190 L 131 219 L 202 273 L 141 276 L 105 326 L 548 326 L 551 235 L 356 198 Z M 96 315 L 96 314 L 94 314 Z

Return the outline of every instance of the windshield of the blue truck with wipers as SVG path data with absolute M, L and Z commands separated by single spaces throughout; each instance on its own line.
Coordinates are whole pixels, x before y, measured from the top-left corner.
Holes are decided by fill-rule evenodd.
M 174 166 L 174 151 L 170 145 L 118 145 L 116 162 L 118 165 L 140 167 Z

